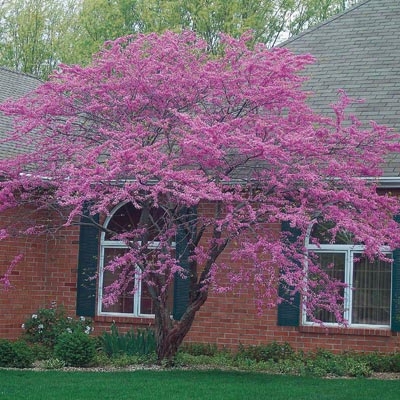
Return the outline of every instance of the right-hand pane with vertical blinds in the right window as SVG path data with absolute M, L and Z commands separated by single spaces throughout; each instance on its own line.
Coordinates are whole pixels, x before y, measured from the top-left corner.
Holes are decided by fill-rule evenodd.
M 355 254 L 352 323 L 390 324 L 391 263 Z

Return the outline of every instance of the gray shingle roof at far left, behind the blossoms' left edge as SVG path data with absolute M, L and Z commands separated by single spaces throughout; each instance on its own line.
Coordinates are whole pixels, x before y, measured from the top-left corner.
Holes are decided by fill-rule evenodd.
M 9 98 L 19 98 L 35 89 L 41 81 L 30 75 L 0 67 L 0 103 Z M 11 119 L 0 112 L 0 139 L 11 129 Z M 23 144 L 0 143 L 0 158 L 7 158 L 19 153 Z

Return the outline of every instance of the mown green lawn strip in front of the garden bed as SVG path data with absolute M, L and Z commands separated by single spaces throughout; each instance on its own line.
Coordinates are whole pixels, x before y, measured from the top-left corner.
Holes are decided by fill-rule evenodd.
M 0 400 L 398 400 L 399 380 L 320 379 L 224 371 L 0 370 Z

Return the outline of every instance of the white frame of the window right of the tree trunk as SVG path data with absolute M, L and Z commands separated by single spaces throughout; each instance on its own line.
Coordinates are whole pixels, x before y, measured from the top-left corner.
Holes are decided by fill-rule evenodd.
M 309 238 L 307 238 L 307 242 L 309 242 Z M 374 325 L 374 324 L 356 324 L 352 323 L 352 298 L 353 298 L 353 268 L 354 268 L 354 254 L 364 253 L 365 246 L 362 245 L 352 245 L 352 244 L 320 244 L 306 245 L 307 251 L 315 254 L 321 253 L 338 253 L 345 254 L 345 283 L 347 287 L 344 289 L 344 319 L 348 321 L 348 326 L 353 328 L 368 328 L 368 329 L 388 329 L 390 328 L 390 323 L 392 319 L 392 274 L 391 274 L 391 293 L 390 293 L 390 302 L 389 302 L 389 323 L 387 325 Z M 382 248 L 382 253 L 387 255 L 392 255 L 392 251 L 389 247 Z M 392 263 L 393 268 L 393 263 Z M 302 307 L 302 324 L 303 325 L 319 325 L 312 321 L 307 321 L 306 307 L 303 302 Z M 332 326 L 338 327 L 340 324 L 337 322 L 324 322 L 324 326 Z

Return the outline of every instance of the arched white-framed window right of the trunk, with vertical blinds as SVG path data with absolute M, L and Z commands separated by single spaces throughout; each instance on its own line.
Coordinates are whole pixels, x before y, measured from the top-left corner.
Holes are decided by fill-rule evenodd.
M 329 276 L 348 285 L 341 293 L 344 319 L 350 326 L 389 327 L 392 263 L 368 259 L 365 247 L 354 244 L 352 236 L 346 232 L 339 232 L 332 243 L 329 226 L 315 224 L 310 231 L 306 243 L 310 257 Z M 389 249 L 384 253 L 391 258 Z M 303 314 L 303 324 L 312 323 Z M 326 324 L 336 323 L 333 314 L 326 310 L 318 310 L 314 316 Z

